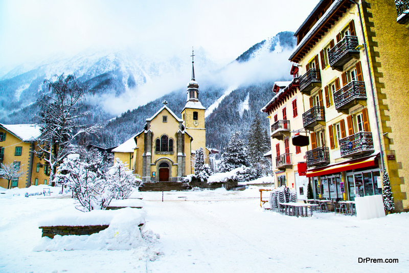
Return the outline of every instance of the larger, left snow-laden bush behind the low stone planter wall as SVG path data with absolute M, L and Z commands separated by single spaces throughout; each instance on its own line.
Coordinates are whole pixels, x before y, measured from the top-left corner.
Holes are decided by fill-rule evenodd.
M 95 166 L 83 162 L 79 154 L 66 156 L 58 167 L 57 179 L 73 191 L 76 200 L 76 209 L 92 211 L 107 206 L 105 202 L 106 181 L 100 173 L 95 171 Z

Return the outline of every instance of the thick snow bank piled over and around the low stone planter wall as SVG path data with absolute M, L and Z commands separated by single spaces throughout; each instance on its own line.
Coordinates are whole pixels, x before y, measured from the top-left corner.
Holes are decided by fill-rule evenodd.
M 159 235 L 151 231 L 141 231 L 138 228 L 140 223 L 145 223 L 144 211 L 138 209 L 125 208 L 117 211 L 91 211 L 87 213 L 78 212 L 86 217 L 63 217 L 54 218 L 54 221 L 43 220 L 42 224 L 58 223 L 79 223 L 85 224 L 107 224 L 109 227 L 99 233 L 92 235 L 56 235 L 53 239 L 42 237 L 39 244 L 33 251 L 72 251 L 72 250 L 129 250 L 133 248 L 143 248 L 143 253 L 158 254 L 156 251 L 150 253 L 149 243 L 160 238 Z M 143 229 L 143 228 L 142 228 Z M 154 256 L 154 255 L 153 255 Z

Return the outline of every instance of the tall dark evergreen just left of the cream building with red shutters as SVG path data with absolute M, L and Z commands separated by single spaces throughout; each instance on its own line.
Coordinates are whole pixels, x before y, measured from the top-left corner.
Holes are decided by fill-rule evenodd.
M 247 134 L 247 149 L 248 159 L 253 168 L 256 169 L 257 176 L 266 175 L 270 164 L 263 155 L 270 150 L 270 140 L 267 137 L 267 130 L 263 128 L 258 113 Z

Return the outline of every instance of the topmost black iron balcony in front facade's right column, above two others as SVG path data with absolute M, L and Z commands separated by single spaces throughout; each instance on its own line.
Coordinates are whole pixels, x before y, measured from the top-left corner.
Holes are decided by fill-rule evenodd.
M 359 59 L 358 37 L 345 36 L 328 52 L 329 65 L 333 70 L 343 71 L 343 66 L 352 58 Z

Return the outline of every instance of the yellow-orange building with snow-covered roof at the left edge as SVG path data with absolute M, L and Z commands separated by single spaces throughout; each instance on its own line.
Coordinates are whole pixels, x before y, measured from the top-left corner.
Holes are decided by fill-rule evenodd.
M 0 163 L 17 164 L 26 173 L 11 181 L 10 188 L 27 188 L 48 184 L 49 168 L 34 154 L 35 139 L 40 135 L 34 124 L 0 124 Z M 8 181 L 0 178 L 0 187 L 7 188 Z

